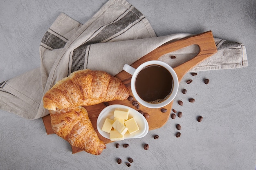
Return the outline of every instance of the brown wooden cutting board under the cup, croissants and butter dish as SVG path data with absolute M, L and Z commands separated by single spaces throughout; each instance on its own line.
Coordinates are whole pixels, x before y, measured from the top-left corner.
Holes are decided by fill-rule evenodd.
M 167 42 L 163 44 L 162 46 L 159 46 L 157 49 L 151 51 L 147 55 L 141 57 L 139 60 L 131 64 L 132 67 L 137 68 L 140 64 L 150 61 L 150 60 L 158 60 L 159 57 L 161 57 L 164 54 L 176 51 L 178 49 L 182 49 L 186 46 L 190 46 L 193 44 L 197 44 L 199 46 L 200 52 L 198 55 L 196 55 L 193 59 L 181 64 L 180 66 L 177 66 L 174 68 L 175 72 L 177 73 L 179 82 L 182 79 L 182 77 L 194 66 L 196 66 L 198 63 L 202 62 L 206 58 L 210 57 L 214 53 L 217 52 L 216 45 L 213 39 L 213 35 L 211 31 L 207 31 L 198 35 L 193 35 L 191 37 L 183 38 L 180 40 L 177 40 L 175 42 Z M 118 73 L 115 77 L 118 77 L 121 79 L 126 87 L 130 90 L 130 95 L 132 96 L 132 92 L 130 89 L 130 79 L 131 75 L 126 73 L 125 71 L 121 71 Z M 136 100 L 136 99 L 134 99 Z M 124 100 L 124 101 L 111 101 L 108 102 L 109 104 L 123 104 L 132 108 L 135 108 L 135 106 L 132 106 L 132 101 Z M 168 118 L 171 114 L 171 108 L 172 108 L 173 102 L 165 106 L 164 108 L 167 109 L 166 113 L 161 112 L 161 108 L 146 108 L 145 106 L 140 105 L 140 108 L 137 110 L 142 110 L 144 113 L 148 113 L 150 117 L 147 119 L 149 130 L 161 128 L 166 124 Z M 97 131 L 97 117 L 101 110 L 105 108 L 103 103 L 94 105 L 94 106 L 85 106 L 85 108 L 88 111 L 88 115 L 90 117 L 90 120 L 92 121 L 92 125 L 95 129 L 95 131 L 98 133 L 99 138 L 105 143 L 108 144 L 112 141 L 110 139 L 106 139 L 102 137 L 99 132 Z M 136 109 L 136 108 L 135 108 Z M 51 126 L 51 117 L 49 115 L 43 117 L 43 123 L 45 125 L 45 129 L 47 132 L 47 135 L 53 134 L 54 131 L 52 130 Z M 76 148 L 72 146 L 72 152 L 76 153 L 81 151 L 80 148 Z

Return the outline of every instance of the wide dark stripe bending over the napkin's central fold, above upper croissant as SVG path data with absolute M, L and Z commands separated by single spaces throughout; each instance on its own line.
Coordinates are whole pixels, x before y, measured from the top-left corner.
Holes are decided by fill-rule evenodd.
M 83 45 L 74 49 L 73 55 L 72 55 L 71 73 L 85 68 L 86 49 L 89 44 L 100 43 L 100 42 L 110 38 L 111 36 L 113 36 L 117 33 L 120 33 L 121 31 L 126 29 L 130 24 L 132 24 L 136 20 L 139 20 L 139 18 L 141 18 L 141 16 L 143 16 L 142 13 L 139 12 L 135 7 L 130 7 L 130 8 L 131 8 L 130 11 L 126 15 L 124 15 L 121 19 L 114 20 L 114 22 L 108 24 L 105 28 L 103 28 L 101 31 L 99 31 L 99 33 L 97 35 L 94 35 L 94 37 L 91 40 L 88 40 Z M 132 26 L 134 26 L 134 25 L 132 25 Z M 89 56 L 87 56 L 86 68 L 87 68 L 87 64 L 88 64 L 88 57 Z

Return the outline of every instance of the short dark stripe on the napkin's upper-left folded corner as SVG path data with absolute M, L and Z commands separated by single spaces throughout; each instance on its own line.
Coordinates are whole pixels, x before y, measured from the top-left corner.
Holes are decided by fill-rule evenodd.
M 51 47 L 52 49 L 61 49 L 66 45 L 66 42 L 56 35 L 47 31 L 41 41 L 43 44 Z

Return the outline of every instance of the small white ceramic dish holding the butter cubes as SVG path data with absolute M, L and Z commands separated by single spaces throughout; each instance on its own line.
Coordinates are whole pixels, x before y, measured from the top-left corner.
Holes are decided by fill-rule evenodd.
M 104 108 L 98 116 L 97 129 L 98 129 L 99 133 L 101 134 L 101 136 L 103 136 L 107 139 L 110 139 L 109 133 L 102 131 L 101 128 L 102 128 L 103 123 L 106 118 L 114 119 L 114 110 L 116 108 L 128 108 L 129 109 L 128 119 L 134 117 L 139 126 L 139 130 L 137 132 L 134 132 L 132 134 L 129 134 L 129 132 L 126 132 L 124 134 L 124 139 L 141 138 L 141 137 L 144 137 L 147 135 L 148 121 L 146 121 L 145 117 L 143 115 L 141 115 L 141 113 L 139 113 L 137 110 L 130 108 L 128 106 L 125 106 L 125 105 L 113 104 L 113 105 L 110 105 L 110 106 L 107 106 L 106 108 Z

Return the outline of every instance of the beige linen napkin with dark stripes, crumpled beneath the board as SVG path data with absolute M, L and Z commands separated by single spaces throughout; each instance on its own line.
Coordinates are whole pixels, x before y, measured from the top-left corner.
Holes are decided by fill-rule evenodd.
M 41 66 L 0 83 L 0 109 L 38 119 L 49 112 L 43 108 L 43 94 L 56 81 L 70 73 L 89 68 L 116 75 L 124 64 L 132 64 L 158 46 L 191 34 L 157 37 L 145 16 L 126 0 L 109 0 L 85 24 L 61 13 L 40 44 Z M 230 69 L 248 66 L 245 46 L 215 38 L 218 52 L 191 71 Z M 198 53 L 196 46 L 173 52 L 180 60 L 164 55 L 159 58 L 171 66 L 182 57 Z

